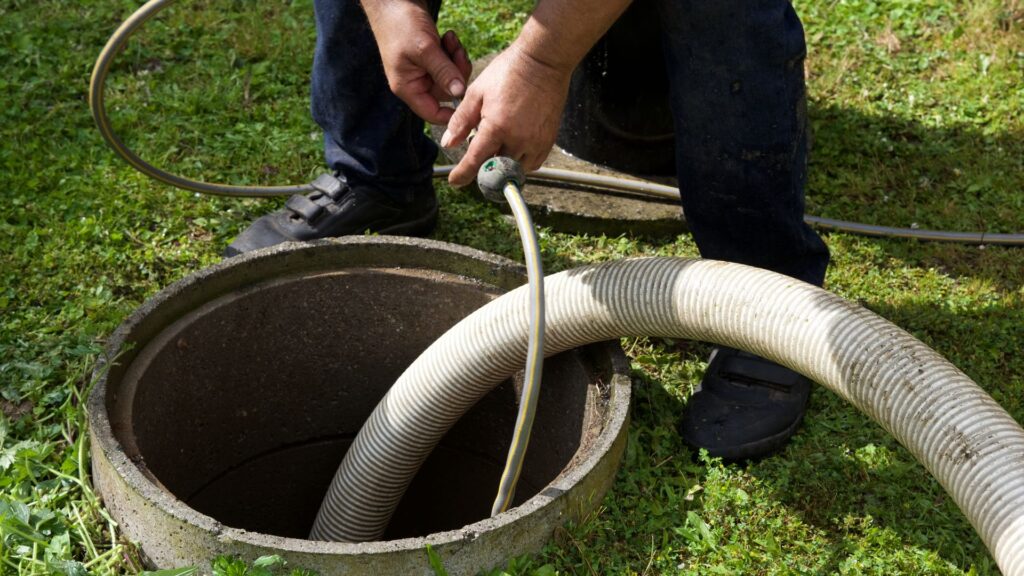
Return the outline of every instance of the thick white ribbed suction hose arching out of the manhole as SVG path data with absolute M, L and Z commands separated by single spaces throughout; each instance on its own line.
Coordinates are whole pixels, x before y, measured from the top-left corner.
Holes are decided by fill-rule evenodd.
M 964 510 L 1008 576 L 1024 576 L 1024 430 L 966 374 L 873 313 L 788 277 L 681 258 L 547 279 L 550 356 L 623 335 L 750 351 L 823 384 L 889 430 Z M 449 427 L 523 363 L 525 287 L 481 307 L 401 375 L 359 433 L 311 537 L 380 538 Z

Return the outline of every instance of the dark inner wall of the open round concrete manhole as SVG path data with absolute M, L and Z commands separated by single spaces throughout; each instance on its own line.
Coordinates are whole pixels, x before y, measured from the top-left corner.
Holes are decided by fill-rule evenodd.
M 368 242 L 362 251 L 376 257 L 360 253 L 328 270 L 309 259 L 315 251 L 296 250 L 279 256 L 281 268 L 270 275 L 254 260 L 241 264 L 241 276 L 227 275 L 233 280 L 213 274 L 207 282 L 185 282 L 116 334 L 118 343 L 131 345 L 102 380 L 112 440 L 133 474 L 174 501 L 172 508 L 184 504 L 214 525 L 247 533 L 305 538 L 349 444 L 406 367 L 459 320 L 522 282 L 507 261 L 467 265 L 462 254 L 455 265 L 428 265 L 439 255 L 437 243 L 428 244 L 423 265 L 388 265 L 382 254 L 414 249 L 400 241 Z M 600 448 L 615 376 L 609 347 L 570 351 L 545 363 L 516 504 Z M 449 431 L 385 540 L 487 519 L 517 397 L 518 381 L 510 378 Z M 110 499 L 105 474 L 97 470 L 97 484 Z M 124 520 L 139 522 L 131 513 Z M 145 542 L 143 551 L 154 564 L 167 563 Z

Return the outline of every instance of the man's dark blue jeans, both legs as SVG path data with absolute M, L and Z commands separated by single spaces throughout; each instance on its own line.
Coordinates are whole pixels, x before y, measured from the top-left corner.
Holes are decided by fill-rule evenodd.
M 637 1 L 657 5 L 682 206 L 700 254 L 821 285 L 828 249 L 803 221 L 806 44 L 793 6 Z M 388 89 L 358 1 L 314 4 L 312 114 L 328 165 L 408 200 L 430 178 L 437 148 Z

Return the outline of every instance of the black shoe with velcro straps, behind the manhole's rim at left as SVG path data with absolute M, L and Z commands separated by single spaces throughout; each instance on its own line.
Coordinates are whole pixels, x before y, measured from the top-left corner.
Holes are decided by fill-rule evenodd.
M 349 186 L 324 174 L 316 190 L 295 195 L 285 207 L 261 216 L 224 250 L 225 256 L 291 241 L 335 238 L 373 232 L 398 236 L 426 236 L 437 223 L 437 197 L 431 182 L 417 190 L 409 204 L 398 204 L 365 186 Z

